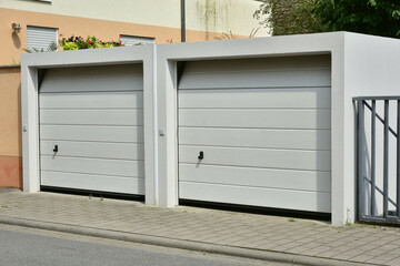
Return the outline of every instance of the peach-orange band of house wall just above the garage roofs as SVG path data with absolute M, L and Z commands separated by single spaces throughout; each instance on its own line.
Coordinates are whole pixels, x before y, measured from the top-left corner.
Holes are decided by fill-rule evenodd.
M 22 29 L 16 33 L 11 29 L 11 23 L 20 23 Z M 77 18 L 70 16 L 57 16 L 49 13 L 38 13 L 20 11 L 14 9 L 0 8 L 0 35 L 1 51 L 0 65 L 20 63 L 20 54 L 27 48 L 27 25 L 57 28 L 60 34 L 69 37 L 96 35 L 101 40 L 118 40 L 120 34 L 151 37 L 157 43 L 166 43 L 172 39 L 173 42 L 180 41 L 180 29 L 158 25 L 134 24 L 107 20 L 94 20 Z M 200 31 L 187 32 L 188 41 L 214 40 L 216 33 Z

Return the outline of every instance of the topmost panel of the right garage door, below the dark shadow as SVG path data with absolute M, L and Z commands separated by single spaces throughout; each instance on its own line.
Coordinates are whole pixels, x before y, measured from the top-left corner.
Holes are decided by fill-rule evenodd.
M 330 69 L 188 73 L 179 89 L 330 86 Z

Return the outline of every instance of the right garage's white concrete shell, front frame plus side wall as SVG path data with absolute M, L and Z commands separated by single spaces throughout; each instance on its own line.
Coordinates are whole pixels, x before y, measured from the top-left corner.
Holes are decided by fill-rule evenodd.
M 157 49 L 159 204 L 178 205 L 179 61 L 331 54 L 331 221 L 356 219 L 353 96 L 396 95 L 400 41 L 348 32 L 162 44 Z

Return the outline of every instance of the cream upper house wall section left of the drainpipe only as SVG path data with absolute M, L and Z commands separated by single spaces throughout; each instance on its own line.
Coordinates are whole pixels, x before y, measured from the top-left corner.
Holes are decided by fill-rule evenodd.
M 0 8 L 179 28 L 180 0 L 0 0 Z

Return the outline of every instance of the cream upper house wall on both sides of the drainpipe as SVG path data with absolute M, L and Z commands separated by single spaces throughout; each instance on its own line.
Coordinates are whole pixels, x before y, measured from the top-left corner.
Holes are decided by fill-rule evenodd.
M 254 0 L 187 0 L 187 29 L 249 35 L 259 27 L 252 17 L 259 4 Z M 0 8 L 180 28 L 180 0 L 0 0 Z M 258 35 L 267 31 L 261 29 Z

